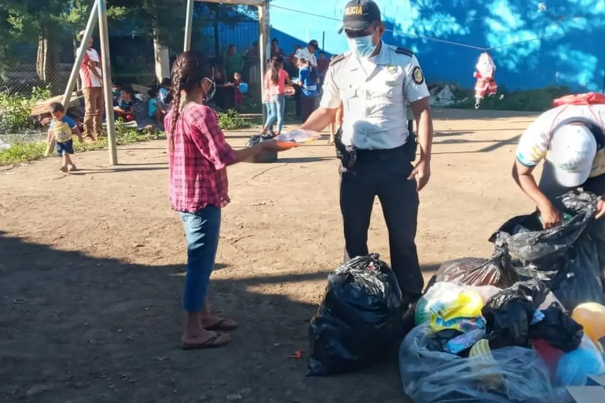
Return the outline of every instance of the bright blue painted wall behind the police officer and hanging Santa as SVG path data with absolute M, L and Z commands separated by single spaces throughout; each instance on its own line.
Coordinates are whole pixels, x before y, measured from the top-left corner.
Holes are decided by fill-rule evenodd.
M 416 51 L 429 82 L 473 86 L 474 64 L 482 48 L 494 57 L 497 82 L 507 89 L 567 85 L 574 91 L 603 91 L 605 0 L 376 2 L 392 30 L 385 34 L 385 42 Z M 329 53 L 342 53 L 347 44 L 337 33 L 337 20 L 346 3 L 273 0 L 272 36 L 287 53 L 310 39 L 317 39 Z M 540 10 L 540 3 L 546 10 Z

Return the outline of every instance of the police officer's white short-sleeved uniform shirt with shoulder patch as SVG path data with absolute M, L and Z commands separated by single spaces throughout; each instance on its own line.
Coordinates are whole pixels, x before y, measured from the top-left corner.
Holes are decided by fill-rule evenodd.
M 344 108 L 342 143 L 393 149 L 408 138 L 407 105 L 430 96 L 416 56 L 382 43 L 370 60 L 347 53 L 325 74 L 323 108 Z

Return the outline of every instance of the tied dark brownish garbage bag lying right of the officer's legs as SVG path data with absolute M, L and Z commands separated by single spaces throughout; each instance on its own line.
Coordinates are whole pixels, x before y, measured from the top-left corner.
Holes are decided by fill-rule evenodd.
M 443 263 L 437 271 L 437 282 L 459 285 L 507 288 L 518 280 L 508 248 L 502 240 L 495 242 L 494 253 L 489 259 L 463 257 Z

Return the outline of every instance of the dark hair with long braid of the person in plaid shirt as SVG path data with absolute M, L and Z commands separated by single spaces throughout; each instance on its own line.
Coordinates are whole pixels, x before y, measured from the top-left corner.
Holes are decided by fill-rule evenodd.
M 181 91 L 190 92 L 196 85 L 201 85 L 206 77 L 204 57 L 194 51 L 186 51 L 178 55 L 172 65 L 172 121 L 168 134 L 168 150 L 174 152 L 174 132 L 180 116 Z

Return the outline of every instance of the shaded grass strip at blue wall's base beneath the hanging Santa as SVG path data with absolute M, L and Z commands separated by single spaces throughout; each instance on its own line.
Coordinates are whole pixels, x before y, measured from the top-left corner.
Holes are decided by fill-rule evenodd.
M 448 108 L 475 108 L 473 90 L 453 88 L 452 91 L 456 99 L 463 101 L 448 106 Z M 483 98 L 480 109 L 544 112 L 552 108 L 552 100 L 571 93 L 569 88 L 564 86 L 549 86 L 539 89 L 528 89 L 526 91 L 506 91 L 506 88 L 500 87 L 498 93 L 493 97 Z M 501 95 L 503 95 L 502 99 L 500 99 Z

